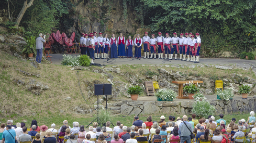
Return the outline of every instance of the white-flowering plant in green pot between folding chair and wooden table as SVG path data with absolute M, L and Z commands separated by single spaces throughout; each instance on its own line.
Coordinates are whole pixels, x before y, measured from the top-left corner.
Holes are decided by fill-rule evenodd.
M 160 89 L 154 96 L 157 97 L 158 101 L 172 101 L 176 99 L 177 93 L 171 89 Z

